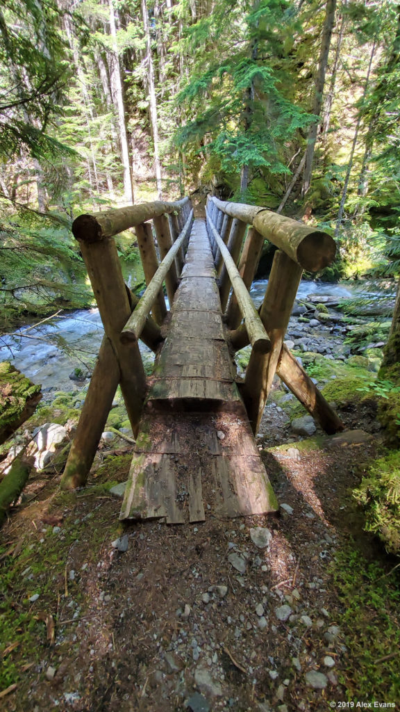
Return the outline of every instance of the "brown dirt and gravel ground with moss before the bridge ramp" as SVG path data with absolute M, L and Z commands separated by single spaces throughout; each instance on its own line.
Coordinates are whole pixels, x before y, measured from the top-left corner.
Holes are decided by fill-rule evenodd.
M 364 433 L 293 441 L 285 413 L 265 410 L 259 446 L 280 516 L 122 528 L 105 486 L 127 478 L 122 441 L 115 456 L 103 445 L 78 493 L 38 473 L 1 532 L 1 708 L 394 706 L 396 562 L 362 532 L 351 495 L 381 441 L 366 404 L 340 415 Z

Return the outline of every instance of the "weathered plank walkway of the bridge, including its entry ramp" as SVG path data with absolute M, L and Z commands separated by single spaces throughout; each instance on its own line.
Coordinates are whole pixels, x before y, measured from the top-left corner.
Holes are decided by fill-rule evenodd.
M 202 521 L 278 509 L 236 385 L 205 221 L 191 230 L 120 518 Z

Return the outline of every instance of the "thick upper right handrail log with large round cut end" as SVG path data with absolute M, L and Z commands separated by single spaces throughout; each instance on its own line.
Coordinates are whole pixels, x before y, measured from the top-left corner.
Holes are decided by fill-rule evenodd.
M 216 197 L 211 197 L 211 201 L 226 215 L 253 225 L 260 235 L 307 271 L 317 272 L 335 258 L 335 240 L 322 230 L 257 205 L 228 203 Z

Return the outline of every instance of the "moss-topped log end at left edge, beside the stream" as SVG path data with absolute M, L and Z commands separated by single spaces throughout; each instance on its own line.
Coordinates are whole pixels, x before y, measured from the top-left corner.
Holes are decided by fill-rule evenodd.
M 0 444 L 31 417 L 41 397 L 41 386 L 8 361 L 0 363 Z

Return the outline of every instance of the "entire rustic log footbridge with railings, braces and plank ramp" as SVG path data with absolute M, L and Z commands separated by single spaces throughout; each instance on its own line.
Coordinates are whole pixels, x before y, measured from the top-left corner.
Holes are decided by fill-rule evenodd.
M 125 285 L 115 235 L 135 229 L 147 288 Z M 104 325 L 61 480 L 84 486 L 120 384 L 136 439 L 120 519 L 199 522 L 278 511 L 256 446 L 275 373 L 329 434 L 337 414 L 284 344 L 302 275 L 335 257 L 320 230 L 260 206 L 189 198 L 81 215 L 73 234 Z M 248 290 L 265 239 L 278 247 L 263 304 Z M 170 309 L 164 298 L 164 287 Z M 155 354 L 147 378 L 138 346 Z M 244 379 L 233 356 L 251 344 Z

